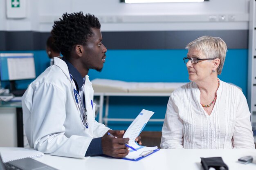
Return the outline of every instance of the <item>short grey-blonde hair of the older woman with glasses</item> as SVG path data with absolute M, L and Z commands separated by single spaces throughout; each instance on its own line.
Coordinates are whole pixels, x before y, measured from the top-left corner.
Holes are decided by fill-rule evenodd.
M 220 75 L 227 53 L 227 45 L 221 38 L 202 36 L 190 42 L 186 49 L 196 49 L 204 54 L 206 58 L 219 58 L 220 65 L 217 68 L 217 73 Z

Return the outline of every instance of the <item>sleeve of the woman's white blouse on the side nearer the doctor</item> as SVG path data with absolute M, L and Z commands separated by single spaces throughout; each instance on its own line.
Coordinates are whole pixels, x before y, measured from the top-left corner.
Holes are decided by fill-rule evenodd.
M 171 93 L 166 108 L 160 144 L 163 149 L 183 148 L 183 121 L 179 117 L 179 108 L 176 105 L 179 102 L 176 102 L 175 98 L 177 100 L 179 97 L 174 95 L 174 92 Z

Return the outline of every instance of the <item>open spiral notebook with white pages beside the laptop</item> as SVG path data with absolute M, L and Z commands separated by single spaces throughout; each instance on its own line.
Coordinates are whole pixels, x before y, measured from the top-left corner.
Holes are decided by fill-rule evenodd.
M 4 163 L 23 158 L 37 158 L 44 155 L 43 152 L 33 148 L 0 148 L 0 153 Z

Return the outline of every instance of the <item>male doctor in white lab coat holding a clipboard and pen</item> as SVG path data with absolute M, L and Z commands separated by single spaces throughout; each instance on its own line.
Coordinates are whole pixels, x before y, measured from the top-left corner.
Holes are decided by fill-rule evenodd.
M 95 121 L 89 69 L 101 71 L 106 60 L 101 24 L 94 15 L 64 13 L 52 36 L 63 58 L 54 57 L 22 97 L 25 132 L 36 150 L 64 157 L 128 155 L 124 130 L 110 130 Z M 107 135 L 110 132 L 118 138 Z M 140 137 L 136 141 L 141 144 Z

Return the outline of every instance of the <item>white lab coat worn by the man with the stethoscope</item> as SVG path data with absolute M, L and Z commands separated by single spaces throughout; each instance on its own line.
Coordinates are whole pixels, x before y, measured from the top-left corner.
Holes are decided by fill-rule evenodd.
M 84 85 L 89 128 L 83 125 L 74 88 L 67 64 L 57 57 L 54 65 L 29 85 L 22 97 L 22 110 L 30 147 L 50 155 L 83 158 L 92 139 L 109 130 L 94 119 L 89 76 Z

